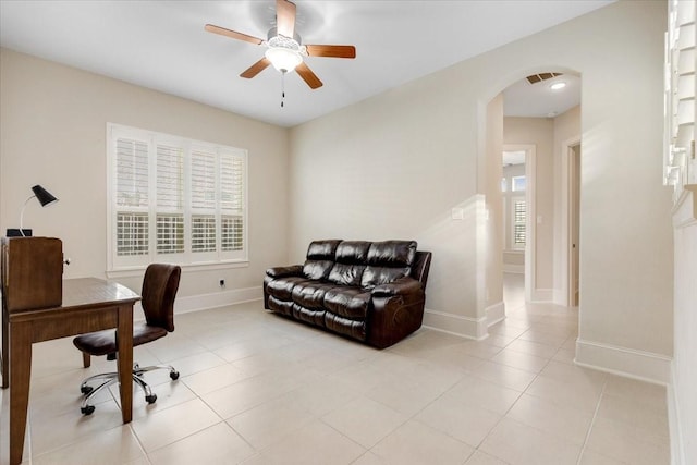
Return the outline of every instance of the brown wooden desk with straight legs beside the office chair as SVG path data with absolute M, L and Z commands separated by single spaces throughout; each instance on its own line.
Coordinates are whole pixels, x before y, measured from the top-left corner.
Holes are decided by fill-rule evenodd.
M 118 370 L 123 423 L 133 407 L 133 304 L 140 296 L 130 289 L 96 278 L 63 281 L 63 304 L 2 315 L 3 388 L 10 381 L 10 465 L 22 462 L 29 400 L 32 344 L 103 329 L 117 329 Z M 7 338 L 9 336 L 9 354 Z M 9 355 L 9 356 L 8 356 Z M 82 357 L 75 352 L 75 364 Z M 10 376 L 8 377 L 8 369 Z

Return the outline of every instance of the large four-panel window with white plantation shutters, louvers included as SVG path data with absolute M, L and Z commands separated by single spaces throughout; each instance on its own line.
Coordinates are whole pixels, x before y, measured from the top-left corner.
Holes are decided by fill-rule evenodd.
M 108 124 L 109 270 L 243 261 L 245 150 Z

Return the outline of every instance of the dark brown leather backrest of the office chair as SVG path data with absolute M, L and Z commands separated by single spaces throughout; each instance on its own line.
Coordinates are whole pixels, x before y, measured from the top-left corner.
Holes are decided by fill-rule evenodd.
M 143 311 L 149 326 L 174 331 L 174 297 L 182 269 L 176 265 L 151 264 L 143 277 Z

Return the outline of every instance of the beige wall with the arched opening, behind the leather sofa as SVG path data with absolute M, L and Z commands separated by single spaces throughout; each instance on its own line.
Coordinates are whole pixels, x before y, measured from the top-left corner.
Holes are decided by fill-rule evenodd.
M 579 338 L 597 350 L 580 351 L 578 362 L 634 375 L 641 368 L 617 367 L 613 357 L 664 363 L 672 352 L 670 192 L 660 170 L 665 21 L 664 2 L 620 1 L 293 129 L 292 257 L 318 237 L 414 237 L 433 252 L 431 325 L 476 336 L 487 103 L 531 72 L 575 71 L 584 144 Z M 464 220 L 451 218 L 458 206 Z

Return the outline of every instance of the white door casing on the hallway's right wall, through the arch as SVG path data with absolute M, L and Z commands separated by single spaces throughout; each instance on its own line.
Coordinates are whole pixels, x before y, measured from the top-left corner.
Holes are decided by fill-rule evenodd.
M 580 145 L 580 136 L 575 136 L 568 138 L 562 143 L 562 186 L 561 186 L 561 264 L 560 264 L 560 272 L 561 272 L 561 302 L 557 302 L 560 305 L 571 306 L 572 305 L 572 289 L 573 285 L 571 283 L 573 272 L 572 272 L 572 216 L 571 211 L 573 209 L 573 197 L 572 197 L 572 175 L 574 174 L 573 163 L 571 163 L 571 159 L 573 155 L 573 147 Z M 580 175 L 580 173 L 578 173 Z M 580 185 L 578 186 L 580 188 Z M 580 271 L 579 271 L 580 273 Z

